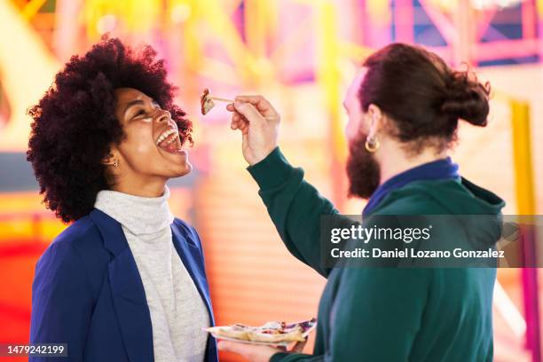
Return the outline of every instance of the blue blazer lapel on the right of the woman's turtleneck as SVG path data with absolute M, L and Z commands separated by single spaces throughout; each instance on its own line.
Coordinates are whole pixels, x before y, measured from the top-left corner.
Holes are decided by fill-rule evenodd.
M 187 240 L 182 232 L 179 231 L 177 224 L 171 224 L 172 239 L 177 254 L 185 265 L 185 269 L 193 279 L 194 285 L 198 289 L 209 313 L 211 326 L 215 326 L 213 318 L 213 309 L 209 297 L 209 286 L 206 279 L 205 266 L 201 257 L 201 250 L 196 246 L 193 240 Z

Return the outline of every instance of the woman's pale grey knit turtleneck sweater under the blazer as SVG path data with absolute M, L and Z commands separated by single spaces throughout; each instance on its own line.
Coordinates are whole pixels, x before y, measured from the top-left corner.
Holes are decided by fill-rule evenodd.
M 94 207 L 122 225 L 146 291 L 155 362 L 202 361 L 209 315 L 177 255 L 170 224 L 169 189 L 158 198 L 100 191 Z

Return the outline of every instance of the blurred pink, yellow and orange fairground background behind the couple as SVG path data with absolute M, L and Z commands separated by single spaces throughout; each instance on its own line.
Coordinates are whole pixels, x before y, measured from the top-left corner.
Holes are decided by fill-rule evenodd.
M 0 0 L 0 342 L 28 342 L 35 262 L 67 227 L 41 204 L 26 110 L 106 32 L 153 44 L 194 123 L 194 170 L 170 182 L 170 206 L 201 233 L 219 325 L 310 319 L 325 279 L 287 253 L 229 114 L 201 115 L 203 88 L 270 98 L 289 160 L 358 214 L 364 201 L 345 197 L 343 94 L 374 49 L 425 45 L 493 87 L 489 126 L 460 126 L 463 176 L 504 198 L 506 214 L 543 212 L 543 0 Z M 541 361 L 538 272 L 498 271 L 496 361 Z

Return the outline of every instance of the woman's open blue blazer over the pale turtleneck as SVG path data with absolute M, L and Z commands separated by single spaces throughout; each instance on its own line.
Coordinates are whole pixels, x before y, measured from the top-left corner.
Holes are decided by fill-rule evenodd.
M 171 231 L 214 325 L 200 238 L 177 218 Z M 94 209 L 60 233 L 37 262 L 30 342 L 67 343 L 68 358 L 61 359 L 70 362 L 153 361 L 146 293 L 121 224 L 112 217 Z M 209 336 L 205 361 L 217 360 Z

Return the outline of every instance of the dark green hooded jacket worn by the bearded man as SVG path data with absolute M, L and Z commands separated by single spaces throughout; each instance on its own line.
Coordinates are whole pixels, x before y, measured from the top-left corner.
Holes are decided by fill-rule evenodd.
M 493 268 L 324 268 L 320 216 L 334 205 L 276 148 L 248 168 L 288 250 L 327 278 L 312 355 L 277 361 L 492 361 Z M 414 181 L 372 215 L 498 215 L 495 194 L 468 180 Z

